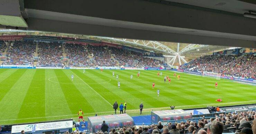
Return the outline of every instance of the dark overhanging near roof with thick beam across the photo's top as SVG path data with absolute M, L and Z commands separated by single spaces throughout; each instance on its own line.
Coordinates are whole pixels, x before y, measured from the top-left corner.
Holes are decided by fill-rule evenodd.
M 256 46 L 256 19 L 243 16 L 256 9 L 255 0 L 2 0 L 1 3 L 0 27 L 6 29 Z

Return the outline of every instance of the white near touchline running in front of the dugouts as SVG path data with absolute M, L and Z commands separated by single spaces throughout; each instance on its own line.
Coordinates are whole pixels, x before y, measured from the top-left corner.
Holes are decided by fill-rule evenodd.
M 243 102 L 227 102 L 227 103 L 212 103 L 212 104 L 199 104 L 199 105 L 185 105 L 185 106 L 176 106 L 176 108 L 179 107 L 188 107 L 188 106 L 203 106 L 203 105 L 223 105 L 223 104 L 233 104 L 233 103 L 246 103 L 246 102 L 256 102 L 256 100 L 249 100 L 249 101 L 243 101 Z M 148 109 L 161 109 L 161 108 L 170 108 L 170 107 L 159 107 L 159 108 L 145 108 L 143 110 L 148 110 Z M 138 112 L 129 112 L 129 111 L 138 111 Z M 99 113 L 110 113 L 110 112 L 115 112 L 115 111 L 109 111 L 109 112 L 98 112 L 98 113 L 86 113 L 86 114 L 99 114 Z M 129 113 L 139 113 L 139 109 L 133 109 L 133 110 L 127 110 Z M 147 111 L 149 112 L 149 111 Z M 86 115 L 85 114 L 85 115 Z M 59 115 L 59 116 L 48 116 L 48 117 L 35 117 L 35 118 L 22 118 L 22 119 L 38 119 L 38 118 L 52 118 L 52 117 L 62 117 L 62 116 L 74 116 L 77 114 L 71 114 L 71 115 Z M 87 117 L 87 116 L 84 116 Z M 22 120 L 22 119 L 6 119 L 6 120 L 0 120 L 1 121 L 13 121 L 13 120 Z

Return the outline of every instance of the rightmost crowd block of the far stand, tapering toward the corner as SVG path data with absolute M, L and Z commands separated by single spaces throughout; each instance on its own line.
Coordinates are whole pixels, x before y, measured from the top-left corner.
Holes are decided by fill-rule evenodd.
M 163 65 L 163 61 L 143 57 L 140 52 L 128 51 L 124 49 L 118 49 L 109 47 L 113 57 L 119 61 L 120 66 L 126 67 L 160 67 Z

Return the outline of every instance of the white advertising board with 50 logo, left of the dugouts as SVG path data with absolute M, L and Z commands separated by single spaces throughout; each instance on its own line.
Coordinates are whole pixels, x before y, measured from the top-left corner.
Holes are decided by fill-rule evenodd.
M 47 122 L 47 123 L 35 123 L 35 124 L 22 124 L 13 125 L 11 127 L 11 133 L 20 133 L 22 130 L 25 133 L 38 132 L 38 131 L 49 131 L 49 130 L 60 130 L 63 128 L 72 128 L 73 121 L 59 121 L 59 122 Z

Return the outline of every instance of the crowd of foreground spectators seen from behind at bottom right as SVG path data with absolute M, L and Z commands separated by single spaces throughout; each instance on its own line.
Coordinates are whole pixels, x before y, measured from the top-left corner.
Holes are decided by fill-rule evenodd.
M 238 134 L 248 132 L 256 134 L 256 114 L 254 111 L 219 114 L 210 119 L 203 116 L 196 122 L 190 120 L 168 124 L 158 122 L 158 124 L 133 126 L 131 128 L 109 129 L 108 125 L 103 121 L 101 129 L 94 134 Z

